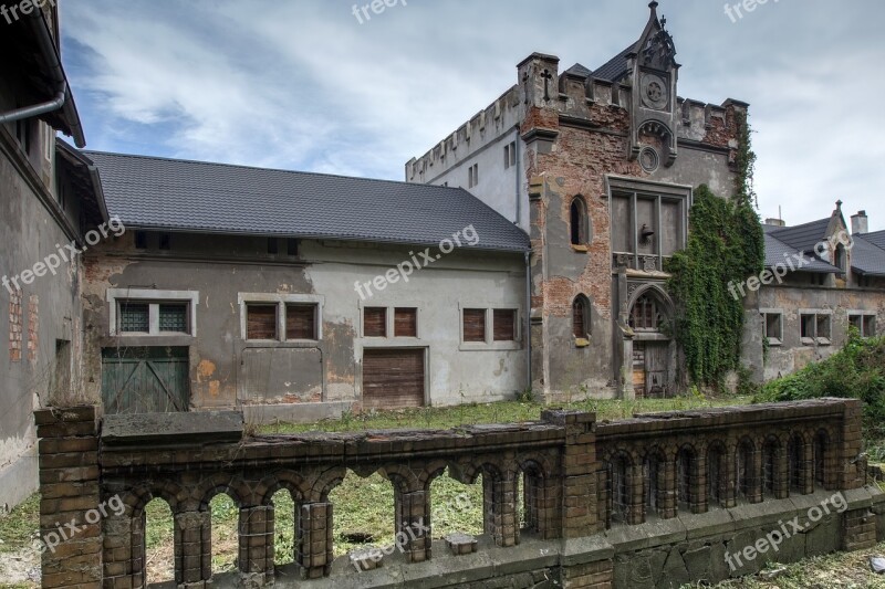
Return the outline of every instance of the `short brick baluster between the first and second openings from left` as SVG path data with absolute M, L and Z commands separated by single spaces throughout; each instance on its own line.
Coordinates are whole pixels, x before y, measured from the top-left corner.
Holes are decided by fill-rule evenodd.
M 175 514 L 175 581 L 180 588 L 200 589 L 212 578 L 212 514 Z

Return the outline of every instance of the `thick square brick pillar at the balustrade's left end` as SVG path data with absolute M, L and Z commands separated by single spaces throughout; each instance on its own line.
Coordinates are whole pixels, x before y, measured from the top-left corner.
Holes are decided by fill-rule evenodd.
M 41 409 L 34 411 L 34 422 L 40 439 L 42 586 L 100 589 L 105 515 L 96 410 Z

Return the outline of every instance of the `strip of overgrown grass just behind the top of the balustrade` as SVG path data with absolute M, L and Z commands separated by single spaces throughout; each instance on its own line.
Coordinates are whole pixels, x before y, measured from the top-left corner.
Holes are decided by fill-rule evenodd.
M 636 413 L 659 411 L 685 411 L 710 407 L 747 404 L 750 397 L 726 397 L 707 399 L 704 396 L 676 397 L 671 399 L 639 399 L 636 401 L 587 399 L 573 402 L 554 403 L 550 407 L 593 411 L 598 421 L 628 419 Z M 421 407 L 393 411 L 371 411 L 345 413 L 341 419 L 330 419 L 314 423 L 273 423 L 262 425 L 259 433 L 304 433 L 355 432 L 366 430 L 387 430 L 419 428 L 447 430 L 478 423 L 521 423 L 538 421 L 545 406 L 538 402 L 502 401 L 485 404 L 464 404 L 456 407 Z

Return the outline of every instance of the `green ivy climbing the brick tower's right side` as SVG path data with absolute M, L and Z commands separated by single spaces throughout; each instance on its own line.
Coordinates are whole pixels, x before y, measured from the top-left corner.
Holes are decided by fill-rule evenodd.
M 743 299 L 728 284 L 762 272 L 764 238 L 752 189 L 756 155 L 746 115 L 738 117 L 739 148 L 735 194 L 719 198 L 709 187 L 695 190 L 688 244 L 667 265 L 668 287 L 677 306 L 676 340 L 689 378 L 721 387 L 726 375 L 740 367 Z

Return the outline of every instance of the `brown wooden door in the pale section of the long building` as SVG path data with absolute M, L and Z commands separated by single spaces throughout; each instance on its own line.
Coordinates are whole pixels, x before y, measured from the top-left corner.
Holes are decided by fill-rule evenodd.
M 363 351 L 363 406 L 393 409 L 424 404 L 423 349 Z

